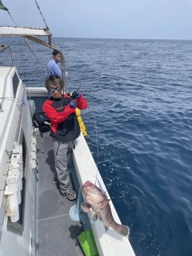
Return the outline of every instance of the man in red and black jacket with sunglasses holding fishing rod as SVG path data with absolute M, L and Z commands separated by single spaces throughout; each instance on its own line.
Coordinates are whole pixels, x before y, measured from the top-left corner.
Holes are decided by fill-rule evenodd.
M 48 76 L 45 87 L 51 92 L 51 97 L 43 105 L 45 115 L 51 120 L 52 143 L 54 147 L 55 172 L 52 182 L 60 183 L 60 192 L 64 198 L 74 200 L 76 191 L 68 190 L 69 177 L 67 163 L 74 147 L 74 140 L 81 132 L 76 116 L 76 108 L 86 109 L 87 101 L 80 92 L 75 93 L 75 99 L 69 99 L 63 94 L 63 81 L 58 76 Z

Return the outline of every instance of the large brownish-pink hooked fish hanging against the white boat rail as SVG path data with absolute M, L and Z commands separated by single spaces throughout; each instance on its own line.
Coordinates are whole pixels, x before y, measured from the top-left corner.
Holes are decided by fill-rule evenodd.
M 129 227 L 116 223 L 113 218 L 111 207 L 109 205 L 110 199 L 107 198 L 106 193 L 102 193 L 96 185 L 89 180 L 82 186 L 85 201 L 81 204 L 81 209 L 84 212 L 93 210 L 92 223 L 99 218 L 104 224 L 104 228 L 108 231 L 109 227 L 113 228 L 118 234 L 122 236 L 129 236 Z

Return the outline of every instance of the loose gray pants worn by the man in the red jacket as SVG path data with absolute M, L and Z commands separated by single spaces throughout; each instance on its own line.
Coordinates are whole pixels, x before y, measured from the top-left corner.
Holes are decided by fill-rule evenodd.
M 53 150 L 54 150 L 54 165 L 55 171 L 53 173 L 54 179 L 58 179 L 60 183 L 60 191 L 63 195 L 69 185 L 69 176 L 67 172 L 67 164 L 70 160 L 74 141 L 61 141 L 52 137 Z

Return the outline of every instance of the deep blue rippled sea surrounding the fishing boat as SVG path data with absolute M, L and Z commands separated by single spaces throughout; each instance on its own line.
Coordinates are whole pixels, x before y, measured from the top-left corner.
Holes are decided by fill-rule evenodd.
M 45 70 L 24 41 L 1 38 L 5 43 L 15 44 L 13 65 L 27 85 L 44 86 Z M 191 256 L 192 41 L 52 38 L 52 44 L 65 54 L 68 90 L 81 86 L 89 102 L 81 113 L 86 141 L 131 229 L 136 256 Z M 30 45 L 45 67 L 52 50 Z M 6 59 L 5 51 L 0 65 Z

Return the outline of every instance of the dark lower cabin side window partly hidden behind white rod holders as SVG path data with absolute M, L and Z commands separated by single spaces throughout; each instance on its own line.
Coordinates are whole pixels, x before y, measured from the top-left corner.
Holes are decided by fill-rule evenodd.
M 7 229 L 17 234 L 22 234 L 24 230 L 24 207 L 26 201 L 26 179 L 28 170 L 28 149 L 26 146 L 26 140 L 24 132 L 21 129 L 19 144 L 22 145 L 22 161 L 23 161 L 23 178 L 22 178 L 22 190 L 20 191 L 21 203 L 19 204 L 19 220 L 12 222 L 8 217 Z

